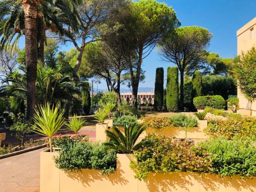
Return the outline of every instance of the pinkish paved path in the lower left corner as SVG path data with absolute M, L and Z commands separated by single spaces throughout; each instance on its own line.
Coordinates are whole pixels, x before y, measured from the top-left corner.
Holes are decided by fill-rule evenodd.
M 40 152 L 42 150 L 44 149 L 0 159 L 0 191 L 39 191 Z

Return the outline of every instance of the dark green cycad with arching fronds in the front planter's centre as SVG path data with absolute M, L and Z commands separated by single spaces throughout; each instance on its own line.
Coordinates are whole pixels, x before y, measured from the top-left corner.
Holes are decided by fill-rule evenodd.
M 104 144 L 119 153 L 132 153 L 134 150 L 138 150 L 143 144 L 143 142 L 135 143 L 145 129 L 146 126 L 142 124 L 136 124 L 132 127 L 124 125 L 123 134 L 118 127 L 113 126 L 111 131 L 105 131 L 106 135 L 110 138 L 110 141 Z

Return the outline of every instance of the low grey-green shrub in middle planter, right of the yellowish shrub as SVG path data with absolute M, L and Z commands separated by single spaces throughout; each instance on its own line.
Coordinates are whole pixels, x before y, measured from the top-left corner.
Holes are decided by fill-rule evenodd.
M 169 118 L 173 126 L 183 126 L 183 125 L 187 125 L 189 127 L 197 126 L 196 118 L 192 116 L 186 116 L 182 113 L 177 115 L 171 115 Z

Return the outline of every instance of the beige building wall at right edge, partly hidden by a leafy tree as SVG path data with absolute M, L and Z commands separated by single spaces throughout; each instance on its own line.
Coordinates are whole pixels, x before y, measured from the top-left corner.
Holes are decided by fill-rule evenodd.
M 237 31 L 238 55 L 256 47 L 256 17 Z M 239 112 L 244 115 L 256 116 L 256 102 L 250 103 L 238 88 Z

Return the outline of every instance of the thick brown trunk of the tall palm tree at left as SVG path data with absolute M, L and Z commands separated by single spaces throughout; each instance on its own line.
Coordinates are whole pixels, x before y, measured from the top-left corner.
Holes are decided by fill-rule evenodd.
M 27 69 L 27 119 L 33 118 L 35 109 L 35 81 L 37 68 L 37 28 L 36 16 L 39 2 L 23 0 L 25 13 L 25 47 Z

